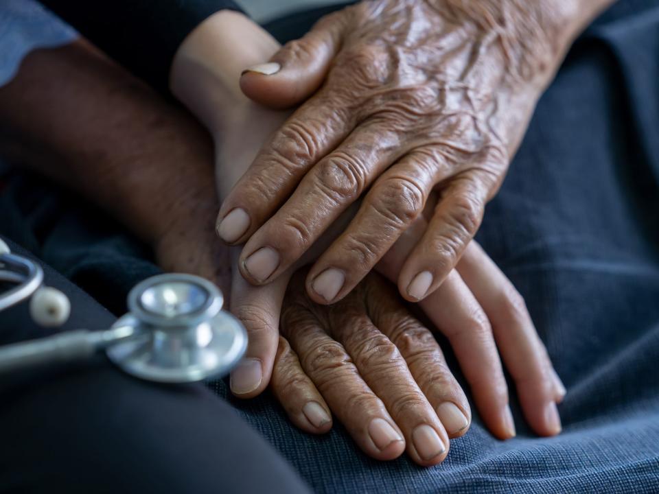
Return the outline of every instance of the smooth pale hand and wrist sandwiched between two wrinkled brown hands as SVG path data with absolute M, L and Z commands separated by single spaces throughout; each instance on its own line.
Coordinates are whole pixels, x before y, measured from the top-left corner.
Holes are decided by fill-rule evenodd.
M 253 40 L 248 43 L 250 32 Z M 242 43 L 235 50 L 216 49 L 227 37 L 233 40 L 238 33 Z M 256 49 L 259 53 L 267 52 L 263 58 L 278 49 L 275 41 L 248 19 L 222 12 L 187 38 L 174 62 L 174 92 L 205 121 L 215 137 L 220 197 L 226 196 L 267 136 L 288 117 L 286 112 L 268 110 L 240 94 L 238 75 L 246 60 L 258 60 L 255 47 L 261 47 Z M 387 279 L 397 279 L 405 259 L 428 229 L 436 196 L 433 192 L 424 215 L 415 219 L 378 263 L 378 271 Z M 313 261 L 314 251 L 315 255 L 322 252 L 328 245 L 323 242 L 343 231 L 356 206 L 345 211 L 325 232 L 325 239 L 306 252 L 305 262 Z M 220 233 L 227 231 L 220 228 Z M 240 255 L 239 247 L 232 250 L 236 257 Z M 231 390 L 236 396 L 254 397 L 268 386 L 277 350 L 281 304 L 292 272 L 289 268 L 273 283 L 260 286 L 251 285 L 240 274 L 231 276 L 231 311 L 244 322 L 250 340 L 246 358 L 231 374 Z M 420 305 L 448 338 L 478 412 L 495 436 L 509 438 L 515 434 L 500 355 L 515 381 L 524 416 L 533 430 L 542 435 L 559 432 L 555 403 L 565 390 L 522 297 L 475 242 L 467 247 L 446 282 Z M 437 414 L 449 432 L 455 432 L 447 425 L 450 417 L 443 410 L 437 410 Z

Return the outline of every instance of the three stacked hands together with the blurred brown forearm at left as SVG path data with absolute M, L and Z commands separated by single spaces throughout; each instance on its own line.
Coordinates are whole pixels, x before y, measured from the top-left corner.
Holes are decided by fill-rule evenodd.
M 222 287 L 249 336 L 234 395 L 270 386 L 302 430 L 334 416 L 373 458 L 437 464 L 472 411 L 431 329 L 496 437 L 515 435 L 502 362 L 533 431 L 561 430 L 566 390 L 473 237 L 608 3 L 369 0 L 284 47 L 220 11 L 170 70 L 214 156 L 194 119 L 84 40 L 36 50 L 0 88 L 0 152 L 86 194 L 165 270 Z

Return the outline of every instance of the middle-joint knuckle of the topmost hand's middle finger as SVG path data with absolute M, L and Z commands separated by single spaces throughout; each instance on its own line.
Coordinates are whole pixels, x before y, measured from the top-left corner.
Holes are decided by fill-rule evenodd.
M 335 152 L 320 167 L 319 188 L 336 203 L 358 198 L 366 185 L 366 167 L 354 156 Z

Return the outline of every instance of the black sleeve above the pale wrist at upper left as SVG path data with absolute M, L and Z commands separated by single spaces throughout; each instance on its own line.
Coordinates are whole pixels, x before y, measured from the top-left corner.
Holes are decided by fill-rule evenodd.
M 170 65 L 187 34 L 232 0 L 41 0 L 133 74 L 168 91 Z

